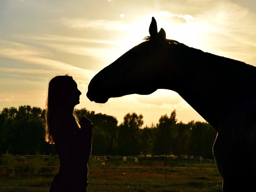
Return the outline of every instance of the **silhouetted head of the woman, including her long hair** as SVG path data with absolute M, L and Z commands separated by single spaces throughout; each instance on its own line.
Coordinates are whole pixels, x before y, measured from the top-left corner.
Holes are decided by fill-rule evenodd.
M 49 81 L 46 100 L 46 140 L 48 142 L 53 143 L 51 125 L 54 118 L 72 114 L 70 112 L 73 112 L 74 107 L 80 103 L 80 95 L 76 82 L 68 74 L 55 76 Z M 75 116 L 74 112 L 73 116 Z

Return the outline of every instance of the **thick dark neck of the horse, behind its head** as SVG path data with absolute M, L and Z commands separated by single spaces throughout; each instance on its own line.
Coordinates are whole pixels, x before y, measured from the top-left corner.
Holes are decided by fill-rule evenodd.
M 168 66 L 179 66 L 178 86 L 174 89 L 173 84 L 167 84 L 162 89 L 176 91 L 218 132 L 236 106 L 255 97 L 256 67 L 184 44 L 176 46 L 171 50 L 175 56 L 170 57 Z M 169 82 L 175 81 L 173 75 L 166 74 L 168 77 Z

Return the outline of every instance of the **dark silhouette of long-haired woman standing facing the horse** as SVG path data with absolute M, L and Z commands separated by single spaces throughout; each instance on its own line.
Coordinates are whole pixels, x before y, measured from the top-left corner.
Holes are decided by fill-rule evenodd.
M 93 124 L 86 117 L 79 122 L 74 113 L 80 95 L 72 76 L 55 76 L 48 84 L 46 140 L 60 159 L 50 192 L 86 192 Z

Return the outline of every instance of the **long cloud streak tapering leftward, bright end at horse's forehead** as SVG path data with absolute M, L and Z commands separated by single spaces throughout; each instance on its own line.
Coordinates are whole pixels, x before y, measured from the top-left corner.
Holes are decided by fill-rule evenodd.
M 22 41 L 41 44 L 55 49 L 57 52 L 92 57 L 101 63 L 113 62 L 124 52 L 120 47 L 126 43 L 107 41 L 101 39 L 75 38 L 49 34 L 16 35 Z

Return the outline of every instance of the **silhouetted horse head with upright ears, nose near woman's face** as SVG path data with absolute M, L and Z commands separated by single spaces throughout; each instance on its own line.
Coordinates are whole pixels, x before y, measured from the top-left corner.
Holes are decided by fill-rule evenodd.
M 124 53 L 92 78 L 86 94 L 91 101 L 106 103 L 111 97 L 149 95 L 161 89 L 160 82 L 165 81 L 167 75 L 164 65 L 170 60 L 170 44 L 178 42 L 166 39 L 163 28 L 158 32 L 154 17 L 149 34 L 144 42 Z

